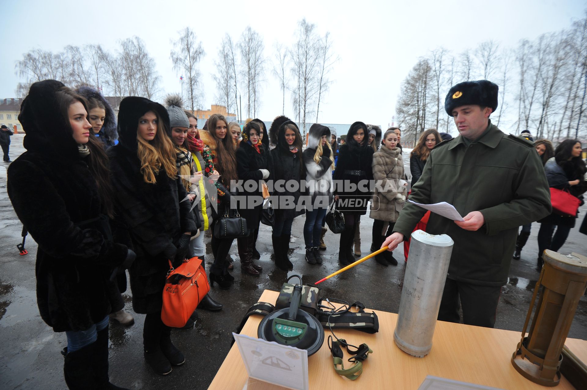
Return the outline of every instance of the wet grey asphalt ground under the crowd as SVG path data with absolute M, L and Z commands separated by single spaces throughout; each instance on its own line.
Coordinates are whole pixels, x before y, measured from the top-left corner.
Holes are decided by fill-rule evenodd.
M 22 135 L 12 137 L 11 160 L 23 152 Z M 404 151 L 407 160 L 407 152 Z M 35 297 L 35 257 L 37 246 L 28 236 L 29 253 L 19 256 L 16 244 L 21 242 L 22 225 L 6 194 L 6 168 L 0 165 L 0 388 L 1 389 L 65 389 L 63 357 L 60 351 L 66 346 L 65 333 L 54 333 L 39 316 Z M 31 191 L 39 191 L 31 184 Z M 42 191 L 39 192 L 42 201 Z M 578 226 L 587 212 L 580 209 L 581 217 L 571 230 L 562 253 L 578 252 L 587 255 L 587 237 L 578 232 Z M 338 235 L 329 232 L 323 252 L 324 263 L 311 265 L 304 260 L 303 222 L 300 216 L 292 228 L 289 259 L 293 272 L 282 272 L 272 263 L 271 229 L 261 225 L 257 249 L 258 261 L 264 268 L 261 276 L 251 277 L 240 272 L 237 245 L 234 243 L 231 258 L 234 263 L 235 282 L 230 290 L 212 288 L 210 294 L 224 304 L 217 313 L 199 311 L 200 318 L 191 330 L 175 330 L 174 344 L 184 353 L 186 362 L 173 369 L 170 375 L 160 377 L 150 371 L 143 358 L 142 331 L 144 316 L 132 312 L 130 288 L 123 294 L 126 310 L 134 315 L 130 327 L 110 323 L 110 380 L 131 389 L 205 389 L 208 387 L 224 357 L 230 350 L 231 332 L 235 331 L 247 308 L 255 303 L 264 289 L 279 290 L 285 279 L 299 273 L 306 284 L 316 282 L 339 269 Z M 363 216 L 360 231 L 362 253 L 368 254 L 371 243 L 372 219 Z M 539 273 L 534 269 L 538 254 L 537 233 L 539 224 L 532 225 L 531 236 L 520 260 L 512 260 L 510 280 L 502 288 L 497 309 L 496 328 L 520 331 L 528 311 L 532 291 Z M 210 236 L 205 238 L 206 253 L 211 253 Z M 323 282 L 322 297 L 336 297 L 346 301 L 362 301 L 367 307 L 397 313 L 406 265 L 403 247 L 394 252 L 400 260 L 398 266 L 384 267 L 374 260 Z M 358 259 L 358 257 L 357 257 Z M 212 256 L 206 256 L 212 262 Z M 569 337 L 587 339 L 587 297 L 579 301 Z M 512 352 L 515 345 L 512 345 Z

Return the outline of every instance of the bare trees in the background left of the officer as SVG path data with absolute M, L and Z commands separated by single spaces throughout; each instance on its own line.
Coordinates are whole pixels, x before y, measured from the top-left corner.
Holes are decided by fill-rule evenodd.
M 173 69 L 183 77 L 186 108 L 193 111 L 203 106 L 204 86 L 199 63 L 205 52 L 190 28 L 180 30 L 178 35 L 177 40 L 171 40 L 170 57 Z M 273 49 L 274 56 L 267 57 L 261 35 L 251 26 L 238 40 L 225 35 L 214 61 L 214 99 L 226 106 L 228 112 L 236 111 L 241 119 L 242 102 L 245 116 L 256 117 L 261 107 L 266 70 L 271 67 L 282 91 L 282 113 L 285 113 L 285 97 L 289 94 L 296 120 L 303 124 L 305 134 L 306 120 L 315 115 L 318 122 L 320 103 L 332 83 L 328 74 L 338 60 L 332 52 L 332 39 L 328 32 L 320 36 L 316 25 L 302 19 L 293 45 L 275 43 Z M 137 36 L 120 40 L 113 52 L 101 45 L 69 45 L 58 53 L 33 49 L 16 62 L 15 69 L 23 80 L 16 88 L 18 97 L 26 96 L 32 83 L 45 79 L 60 80 L 68 86 L 88 84 L 105 96 L 121 99 L 126 96 L 155 99 L 161 92 L 155 61 Z

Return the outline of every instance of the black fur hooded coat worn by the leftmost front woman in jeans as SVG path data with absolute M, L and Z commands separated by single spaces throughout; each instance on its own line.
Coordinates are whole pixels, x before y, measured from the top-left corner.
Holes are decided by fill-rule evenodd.
M 56 332 L 86 330 L 110 314 L 118 294 L 110 274 L 128 252 L 87 223 L 77 226 L 99 217 L 103 204 L 69 120 L 60 115 L 55 92 L 61 87 L 55 80 L 32 84 L 18 117 L 27 151 L 8 168 L 8 196 L 39 245 L 39 311 Z

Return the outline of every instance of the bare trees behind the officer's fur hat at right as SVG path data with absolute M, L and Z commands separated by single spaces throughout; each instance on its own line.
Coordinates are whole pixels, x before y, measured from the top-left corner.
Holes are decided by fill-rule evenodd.
M 487 79 L 500 87 L 492 123 L 506 133 L 529 130 L 555 143 L 587 135 L 587 13 L 558 32 L 523 39 L 515 48 L 493 40 L 452 53 L 444 48 L 420 57 L 402 83 L 397 123 L 411 144 L 427 128 L 450 133 L 446 92 L 456 83 Z

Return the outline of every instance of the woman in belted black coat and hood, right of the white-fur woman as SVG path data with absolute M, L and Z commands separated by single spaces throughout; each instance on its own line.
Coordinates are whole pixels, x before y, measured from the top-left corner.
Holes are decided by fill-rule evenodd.
M 340 264 L 355 261 L 352 253 L 353 238 L 361 215 L 367 213 L 371 199 L 369 181 L 373 179 L 373 148 L 369 146 L 367 125 L 355 122 L 346 134 L 346 143 L 338 152 L 334 171 L 335 201 L 345 216 L 345 230 L 340 233 L 338 259 Z M 356 189 L 350 188 L 356 186 Z

